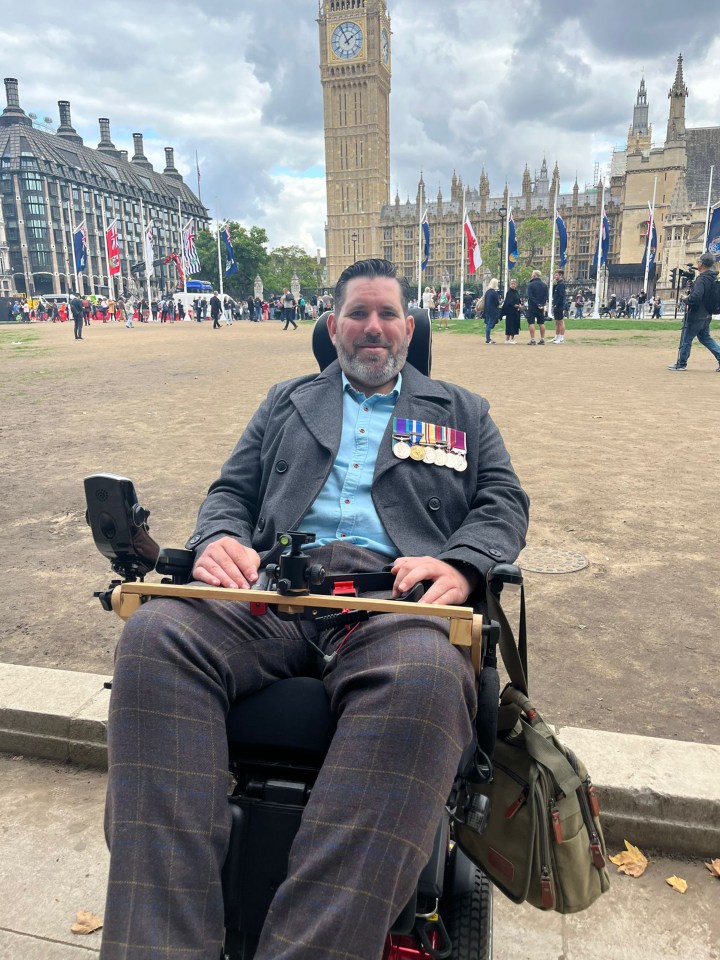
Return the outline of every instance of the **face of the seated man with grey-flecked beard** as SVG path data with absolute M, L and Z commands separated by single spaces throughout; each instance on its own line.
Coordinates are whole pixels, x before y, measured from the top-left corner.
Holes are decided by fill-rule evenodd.
M 345 287 L 328 332 L 346 377 L 364 393 L 389 393 L 407 359 L 415 321 L 406 316 L 391 277 L 356 277 Z

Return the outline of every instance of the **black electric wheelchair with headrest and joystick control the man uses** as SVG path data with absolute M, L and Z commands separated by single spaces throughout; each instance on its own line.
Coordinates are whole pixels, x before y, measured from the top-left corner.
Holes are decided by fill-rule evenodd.
M 412 311 L 415 334 L 408 362 L 429 374 L 431 363 L 431 326 L 427 310 Z M 316 321 L 313 352 L 324 369 L 335 359 L 335 348 L 327 332 L 327 314 Z M 87 520 L 100 552 L 110 560 L 121 579 L 96 596 L 106 610 L 120 616 L 122 587 L 144 584 L 145 576 L 155 571 L 164 576 L 163 584 L 186 584 L 191 576 L 194 554 L 188 550 L 160 549 L 149 534 L 149 511 L 138 503 L 131 481 L 111 474 L 96 474 L 85 479 Z M 389 573 L 343 574 L 325 577 L 311 563 L 312 553 L 303 553 L 303 544 L 312 535 L 290 531 L 278 537 L 273 557 L 263 560 L 265 571 L 276 591 L 278 605 L 290 595 L 347 594 L 390 590 Z M 269 560 L 278 561 L 268 564 Z M 503 582 L 517 582 L 519 571 L 502 565 L 495 568 L 489 584 L 496 593 Z M 338 582 L 342 589 L 338 591 Z M 348 583 L 352 583 L 352 589 Z M 157 588 L 160 589 L 160 588 Z M 416 601 L 424 592 L 418 585 L 405 601 Z M 148 599 L 146 596 L 145 599 Z M 125 597 L 125 600 L 128 598 Z M 138 604 L 141 597 L 131 597 Z M 278 609 L 283 609 L 278 606 Z M 310 607 L 306 608 L 310 610 Z M 366 619 L 361 611 L 321 611 L 333 626 Z M 328 617 L 328 614 L 330 615 Z M 317 616 L 314 610 L 309 614 Z M 371 614 L 372 615 L 372 614 Z M 355 620 L 353 619 L 355 617 Z M 344 619 L 342 619 L 344 618 Z M 499 630 L 496 623 L 483 624 L 476 670 L 482 663 L 481 684 L 494 672 L 495 646 Z M 486 669 L 488 668 L 488 669 Z M 480 740 L 466 749 L 459 777 L 472 769 L 484 771 L 483 758 L 489 764 L 495 727 L 493 712 L 498 698 L 494 688 L 481 709 Z M 489 707 L 488 707 L 489 704 Z M 251 960 L 254 956 L 270 902 L 287 873 L 293 838 L 304 806 L 322 766 L 335 730 L 335 719 L 320 680 L 297 677 L 281 680 L 235 703 L 227 717 L 229 744 L 231 835 L 222 874 L 225 905 L 225 945 L 222 960 Z M 457 789 L 438 824 L 431 858 L 423 869 L 415 893 L 396 918 L 385 944 L 383 960 L 411 960 L 431 957 L 435 960 L 490 960 L 492 956 L 492 887 L 488 878 L 454 844 L 452 825 L 456 818 L 482 831 L 489 815 L 485 798 L 474 795 L 478 806 L 458 809 Z M 464 795 L 464 794 L 463 794 Z M 462 805 L 461 805 L 462 806 Z

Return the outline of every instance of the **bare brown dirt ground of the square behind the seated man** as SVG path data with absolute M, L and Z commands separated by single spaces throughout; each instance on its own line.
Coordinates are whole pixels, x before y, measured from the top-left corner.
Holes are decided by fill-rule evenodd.
M 0 327 L 0 659 L 111 670 L 120 622 L 92 597 L 109 571 L 82 478 L 131 477 L 154 536 L 181 545 L 267 388 L 313 369 L 310 332 L 95 325 L 76 343 L 68 325 Z M 548 716 L 720 743 L 720 375 L 697 345 L 668 372 L 676 337 L 570 331 L 508 350 L 442 333 L 433 374 L 490 399 L 531 496 L 529 546 L 589 560 L 526 577 Z

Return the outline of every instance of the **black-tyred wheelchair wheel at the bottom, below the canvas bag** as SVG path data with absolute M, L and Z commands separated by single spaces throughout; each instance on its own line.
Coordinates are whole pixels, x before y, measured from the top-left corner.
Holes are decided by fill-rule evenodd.
M 452 942 L 449 960 L 492 960 L 492 883 L 457 847 L 442 915 Z

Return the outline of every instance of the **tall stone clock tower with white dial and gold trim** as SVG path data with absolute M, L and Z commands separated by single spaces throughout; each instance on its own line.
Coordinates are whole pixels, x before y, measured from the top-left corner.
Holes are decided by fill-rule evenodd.
M 390 202 L 390 21 L 385 0 L 320 0 L 328 281 L 380 256 Z

